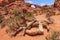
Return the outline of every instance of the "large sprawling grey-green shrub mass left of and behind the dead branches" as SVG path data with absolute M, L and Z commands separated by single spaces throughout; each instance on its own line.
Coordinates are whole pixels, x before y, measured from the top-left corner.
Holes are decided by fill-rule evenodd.
M 22 17 L 23 15 L 23 17 Z M 20 8 L 15 8 L 12 12 L 12 15 L 4 19 L 1 23 L 2 28 L 7 25 L 9 30 L 16 31 L 20 26 L 25 27 L 26 20 L 25 18 L 32 18 L 32 14 L 30 12 L 23 13 L 23 10 Z M 16 30 L 15 30 L 16 29 Z M 6 31 L 7 32 L 7 31 Z

